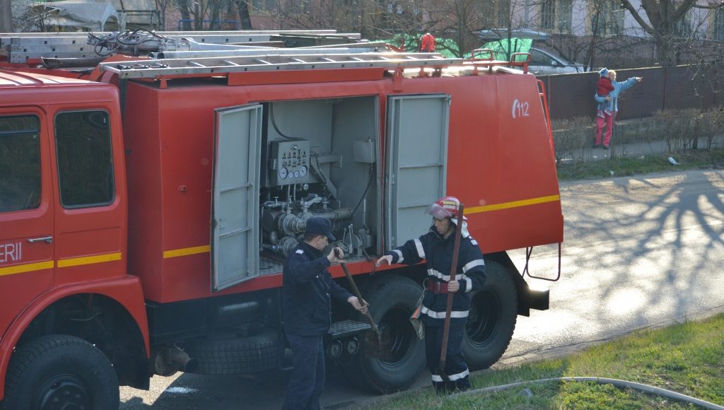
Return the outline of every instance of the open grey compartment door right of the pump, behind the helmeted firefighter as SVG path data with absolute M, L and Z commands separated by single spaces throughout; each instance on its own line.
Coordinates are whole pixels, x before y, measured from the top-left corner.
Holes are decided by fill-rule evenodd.
M 425 209 L 445 196 L 450 96 L 394 96 L 387 104 L 387 248 L 432 225 Z

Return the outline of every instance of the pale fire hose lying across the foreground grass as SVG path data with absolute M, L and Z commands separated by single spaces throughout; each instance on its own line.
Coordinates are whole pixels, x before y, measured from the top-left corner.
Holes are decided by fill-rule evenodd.
M 676 401 L 683 401 L 685 403 L 691 403 L 691 404 L 694 404 L 695 406 L 701 406 L 704 409 L 724 410 L 724 406 L 719 406 L 718 404 L 710 403 L 708 401 L 704 401 L 699 398 L 686 396 L 685 394 L 676 393 L 675 391 L 657 388 L 657 387 L 650 386 L 650 385 L 644 385 L 644 384 L 637 383 L 637 382 L 629 382 L 628 380 L 608 379 L 607 377 L 552 377 L 550 379 L 529 380 L 527 382 L 510 383 L 509 385 L 499 385 L 499 386 L 491 386 L 489 388 L 479 388 L 479 389 L 475 389 L 475 390 L 467 390 L 465 392 L 458 393 L 455 396 L 471 395 L 471 394 L 479 394 L 479 393 L 494 393 L 494 392 L 499 392 L 499 391 L 503 391 L 503 390 L 508 390 L 511 388 L 516 388 L 516 387 L 519 387 L 522 385 L 528 385 L 531 383 L 542 384 L 542 383 L 547 383 L 547 382 L 596 382 L 598 384 L 614 385 L 617 388 L 631 388 L 631 389 L 639 391 L 641 393 L 647 393 L 647 394 L 652 394 L 655 396 L 670 398 L 670 399 L 676 400 Z

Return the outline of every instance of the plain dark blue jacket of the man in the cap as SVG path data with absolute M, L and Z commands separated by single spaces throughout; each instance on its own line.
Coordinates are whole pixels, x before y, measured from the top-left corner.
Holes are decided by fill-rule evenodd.
M 332 300 L 352 296 L 332 280 L 329 259 L 305 242 L 300 242 L 284 264 L 282 310 L 284 330 L 302 336 L 324 335 L 332 325 Z

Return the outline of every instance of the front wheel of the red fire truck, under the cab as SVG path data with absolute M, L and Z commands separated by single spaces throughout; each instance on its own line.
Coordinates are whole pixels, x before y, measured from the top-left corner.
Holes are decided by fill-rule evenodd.
M 95 346 L 68 335 L 49 335 L 10 359 L 0 409 L 118 409 L 118 378 Z

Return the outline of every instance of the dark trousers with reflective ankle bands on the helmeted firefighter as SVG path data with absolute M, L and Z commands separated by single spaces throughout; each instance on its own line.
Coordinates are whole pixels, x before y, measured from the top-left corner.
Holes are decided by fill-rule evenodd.
M 447 335 L 447 353 L 445 354 L 445 375 L 450 380 L 452 390 L 468 390 L 470 380 L 468 365 L 463 356 L 463 337 L 465 337 L 466 320 L 450 322 L 450 333 Z M 445 391 L 445 382 L 440 375 L 440 353 L 442 353 L 443 326 L 425 326 L 425 353 L 427 366 L 432 374 L 432 385 L 439 392 Z

